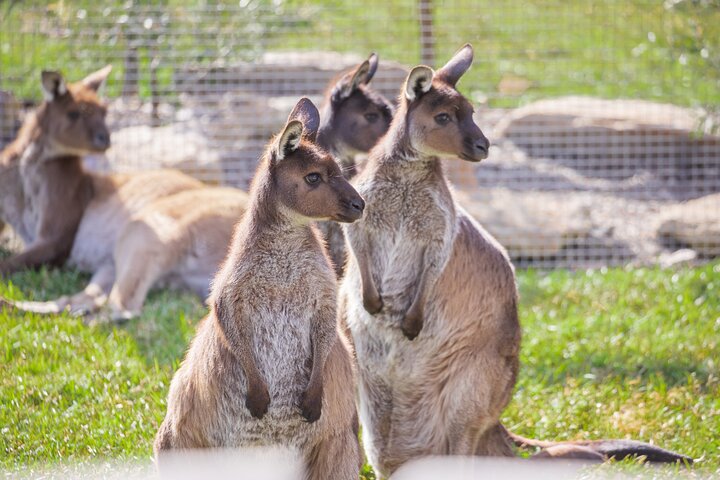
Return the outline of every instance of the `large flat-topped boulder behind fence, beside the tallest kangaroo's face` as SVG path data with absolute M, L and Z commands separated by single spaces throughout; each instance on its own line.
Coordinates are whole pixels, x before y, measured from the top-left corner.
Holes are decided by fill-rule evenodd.
M 532 157 L 554 159 L 586 176 L 616 180 L 649 171 L 677 198 L 720 189 L 717 122 L 702 110 L 562 97 L 510 112 L 494 133 Z

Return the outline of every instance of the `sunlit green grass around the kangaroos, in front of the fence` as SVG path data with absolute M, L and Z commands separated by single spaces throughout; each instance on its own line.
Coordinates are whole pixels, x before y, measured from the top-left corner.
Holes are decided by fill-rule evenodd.
M 702 458 L 700 472 L 720 472 L 720 262 L 518 278 L 522 369 L 506 425 L 543 439 L 652 441 Z M 50 298 L 84 280 L 22 273 L 0 295 Z M 0 469 L 147 462 L 203 314 L 193 297 L 169 292 L 117 327 L 0 312 Z

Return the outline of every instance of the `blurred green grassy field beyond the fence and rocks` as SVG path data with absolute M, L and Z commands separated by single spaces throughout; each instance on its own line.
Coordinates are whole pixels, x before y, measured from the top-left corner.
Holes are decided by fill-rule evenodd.
M 42 68 L 79 78 L 110 62 L 109 94 L 117 95 L 129 46 L 146 97 L 151 59 L 170 98 L 175 66 L 252 60 L 264 51 L 377 51 L 412 65 L 420 62 L 417 4 L 0 0 L 0 87 L 37 99 Z M 435 2 L 433 15 L 438 62 L 472 42 L 476 64 L 462 88 L 494 106 L 567 94 L 720 105 L 717 0 L 453 0 Z

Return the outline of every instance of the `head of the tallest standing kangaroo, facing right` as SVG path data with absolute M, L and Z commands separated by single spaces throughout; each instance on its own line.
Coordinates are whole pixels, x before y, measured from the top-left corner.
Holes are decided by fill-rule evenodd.
M 487 158 L 488 139 L 473 120 L 472 104 L 455 88 L 470 68 L 473 50 L 462 47 L 440 70 L 410 71 L 401 96 L 410 147 L 421 155 L 454 155 L 470 162 Z

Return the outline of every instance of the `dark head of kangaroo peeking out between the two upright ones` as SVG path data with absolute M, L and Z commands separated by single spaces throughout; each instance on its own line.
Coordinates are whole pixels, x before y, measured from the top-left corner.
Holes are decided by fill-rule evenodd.
M 370 87 L 378 56 L 367 60 L 331 82 L 323 106 L 319 143 L 341 156 L 368 152 L 385 135 L 393 106 Z

